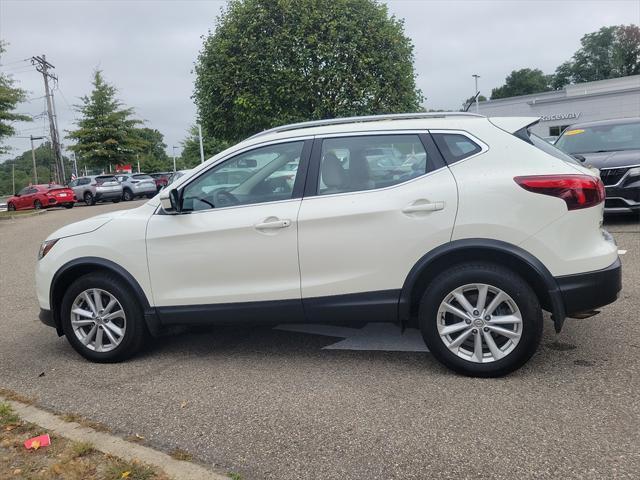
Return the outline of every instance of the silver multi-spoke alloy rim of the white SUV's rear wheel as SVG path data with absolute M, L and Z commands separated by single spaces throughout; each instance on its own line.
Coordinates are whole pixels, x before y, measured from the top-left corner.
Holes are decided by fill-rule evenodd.
M 490 363 L 509 355 L 522 337 L 522 314 L 503 290 L 484 283 L 463 285 L 438 308 L 438 333 L 458 357 Z

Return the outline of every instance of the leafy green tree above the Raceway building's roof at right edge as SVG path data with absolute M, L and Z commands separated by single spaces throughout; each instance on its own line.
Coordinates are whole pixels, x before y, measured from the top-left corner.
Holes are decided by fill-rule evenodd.
M 562 63 L 554 88 L 640 74 L 640 28 L 637 25 L 602 27 L 584 35 L 571 60 Z

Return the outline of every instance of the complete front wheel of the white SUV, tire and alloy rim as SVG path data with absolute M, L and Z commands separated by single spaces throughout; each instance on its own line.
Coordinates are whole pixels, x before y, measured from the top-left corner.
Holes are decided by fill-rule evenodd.
M 104 307 L 108 306 L 110 298 L 115 298 L 119 305 L 116 304 L 112 307 L 110 312 L 116 314 L 123 312 L 124 317 L 116 316 L 116 318 L 105 321 L 72 314 L 71 310 L 74 304 L 76 308 L 79 306 L 79 308 L 91 312 L 89 304 L 80 299 L 80 295 L 92 289 L 98 289 L 102 292 L 100 296 Z M 140 351 L 149 334 L 144 323 L 142 308 L 130 290 L 120 277 L 104 272 L 84 275 L 67 288 L 60 307 L 60 318 L 62 319 L 62 330 L 76 352 L 92 362 L 115 363 L 126 360 Z M 89 297 L 95 303 L 95 297 L 91 292 Z M 76 320 L 93 323 L 80 326 L 76 324 L 79 329 L 79 332 L 76 333 L 74 326 L 72 326 L 72 315 Z M 122 332 L 121 336 L 116 333 L 117 330 L 114 327 Z M 91 335 L 94 328 L 95 333 Z M 88 346 L 80 340 L 83 335 L 85 338 L 89 336 Z M 102 339 L 100 343 L 103 346 L 103 351 L 97 348 L 99 336 Z M 116 340 L 115 343 L 111 341 L 112 337 Z

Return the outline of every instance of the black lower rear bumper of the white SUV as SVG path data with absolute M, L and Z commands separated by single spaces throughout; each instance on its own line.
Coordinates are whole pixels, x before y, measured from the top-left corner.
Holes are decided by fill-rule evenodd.
M 571 316 L 613 303 L 622 289 L 620 259 L 602 270 L 556 277 L 565 314 Z

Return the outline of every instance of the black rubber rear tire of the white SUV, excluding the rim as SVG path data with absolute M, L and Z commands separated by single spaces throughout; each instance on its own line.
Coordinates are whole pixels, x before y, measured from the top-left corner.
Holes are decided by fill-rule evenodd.
M 518 345 L 498 361 L 475 363 L 460 358 L 447 348 L 438 333 L 440 303 L 451 291 L 470 283 L 485 283 L 503 290 L 522 314 Z M 463 375 L 499 377 L 520 368 L 537 350 L 542 336 L 542 309 L 535 292 L 514 272 L 492 264 L 462 265 L 440 274 L 427 288 L 420 304 L 420 330 L 429 351 L 445 366 Z

